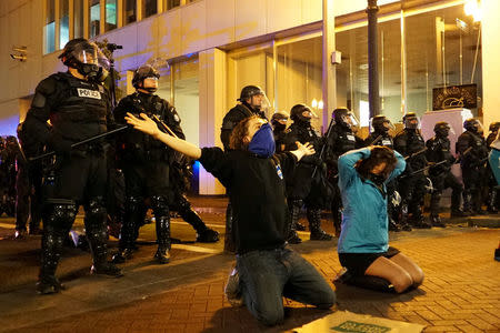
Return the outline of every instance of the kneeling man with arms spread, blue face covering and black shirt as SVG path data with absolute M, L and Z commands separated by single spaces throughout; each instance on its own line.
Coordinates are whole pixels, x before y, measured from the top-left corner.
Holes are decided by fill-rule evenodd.
M 288 209 L 284 179 L 298 160 L 314 151 L 298 143 L 298 150 L 274 153 L 271 128 L 258 117 L 238 124 L 230 151 L 203 148 L 160 133 L 151 120 L 129 115 L 128 122 L 183 154 L 199 159 L 207 171 L 229 189 L 234 213 L 237 269 L 242 300 L 262 323 L 283 320 L 282 296 L 328 309 L 334 292 L 318 271 L 286 243 Z

